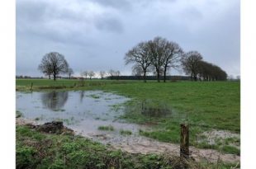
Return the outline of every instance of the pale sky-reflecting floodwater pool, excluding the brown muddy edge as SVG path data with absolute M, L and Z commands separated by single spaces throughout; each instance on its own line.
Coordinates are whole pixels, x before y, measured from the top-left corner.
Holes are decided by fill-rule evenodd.
M 17 92 L 16 99 L 17 110 L 24 118 L 36 120 L 39 124 L 61 120 L 78 134 L 102 143 L 123 141 L 127 136 L 120 134 L 121 129 L 130 130 L 135 137 L 144 128 L 118 119 L 124 113 L 121 104 L 130 99 L 109 92 Z M 107 125 L 113 126 L 114 131 L 97 129 Z

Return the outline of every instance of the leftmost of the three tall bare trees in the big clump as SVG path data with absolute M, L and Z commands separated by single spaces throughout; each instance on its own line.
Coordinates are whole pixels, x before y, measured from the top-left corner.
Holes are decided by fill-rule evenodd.
M 146 73 L 149 71 L 151 59 L 149 58 L 149 44 L 140 42 L 133 49 L 130 49 L 125 56 L 126 64 L 135 63 L 143 71 L 143 79 L 146 82 Z

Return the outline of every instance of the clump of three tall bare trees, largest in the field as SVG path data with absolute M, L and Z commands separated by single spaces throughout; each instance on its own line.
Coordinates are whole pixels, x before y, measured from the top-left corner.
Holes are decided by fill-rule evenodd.
M 145 74 L 152 70 L 158 82 L 162 75 L 166 82 L 167 71 L 170 68 L 178 68 L 182 56 L 183 49 L 177 43 L 157 36 L 154 40 L 140 42 L 126 54 L 125 60 L 126 64 L 135 63 L 134 68 L 137 70 L 140 67 L 144 72 L 144 79 Z

